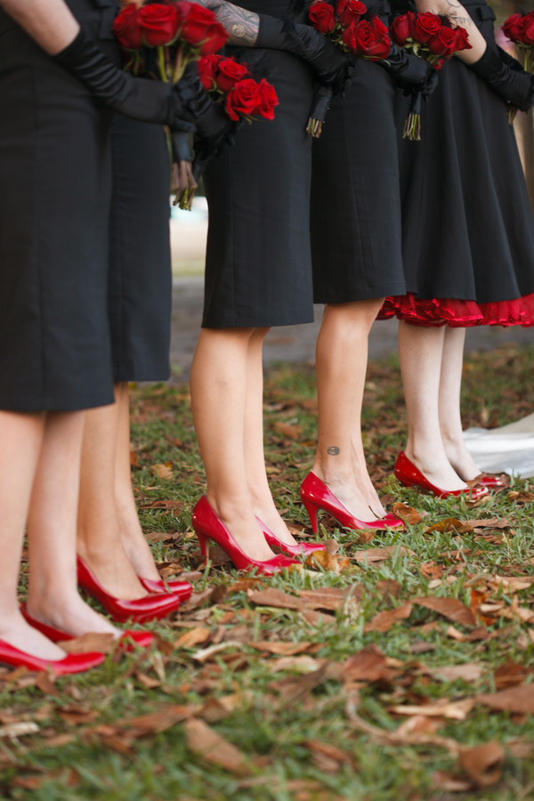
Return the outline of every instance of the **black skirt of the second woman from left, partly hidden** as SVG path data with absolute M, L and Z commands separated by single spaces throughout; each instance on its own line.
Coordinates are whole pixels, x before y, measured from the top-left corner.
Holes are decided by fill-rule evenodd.
M 170 375 L 169 155 L 161 125 L 116 115 L 111 133 L 109 327 L 115 381 Z

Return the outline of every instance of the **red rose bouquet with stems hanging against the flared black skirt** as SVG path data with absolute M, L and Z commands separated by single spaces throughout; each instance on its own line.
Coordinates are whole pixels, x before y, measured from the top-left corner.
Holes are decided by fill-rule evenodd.
M 409 53 L 429 61 L 434 69 L 441 69 L 455 53 L 471 50 L 465 28 L 452 28 L 449 18 L 425 12 L 408 12 L 396 17 L 390 27 L 392 40 Z M 404 139 L 421 139 L 421 98 L 413 97 L 402 132 Z

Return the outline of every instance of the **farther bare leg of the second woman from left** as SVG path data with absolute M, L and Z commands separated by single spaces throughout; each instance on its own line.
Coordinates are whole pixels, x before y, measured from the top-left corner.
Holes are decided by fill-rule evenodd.
M 115 499 L 120 536 L 126 555 L 138 576 L 159 580 L 159 573 L 150 546 L 142 533 L 135 506 L 130 466 L 130 399 L 128 384 L 115 384 L 117 403 L 117 457 Z

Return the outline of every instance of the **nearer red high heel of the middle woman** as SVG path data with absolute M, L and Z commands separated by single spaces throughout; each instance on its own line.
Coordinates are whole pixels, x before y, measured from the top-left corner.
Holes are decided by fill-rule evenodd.
M 280 570 L 290 567 L 292 564 L 300 564 L 295 559 L 287 559 L 287 556 L 275 556 L 266 562 L 251 559 L 245 551 L 241 550 L 218 514 L 215 514 L 206 496 L 200 498 L 197 506 L 193 509 L 191 524 L 198 537 L 200 550 L 204 556 L 207 555 L 207 540 L 213 539 L 230 556 L 231 561 L 238 570 L 257 568 L 258 573 L 264 576 L 271 576 L 273 573 L 279 573 Z

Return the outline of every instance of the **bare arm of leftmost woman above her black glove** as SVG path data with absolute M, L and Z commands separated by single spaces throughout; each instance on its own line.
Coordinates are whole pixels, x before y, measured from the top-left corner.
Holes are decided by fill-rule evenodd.
M 67 47 L 80 29 L 63 0 L 0 0 L 0 8 L 49 55 Z

